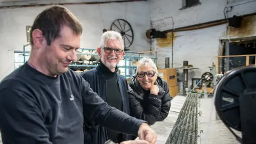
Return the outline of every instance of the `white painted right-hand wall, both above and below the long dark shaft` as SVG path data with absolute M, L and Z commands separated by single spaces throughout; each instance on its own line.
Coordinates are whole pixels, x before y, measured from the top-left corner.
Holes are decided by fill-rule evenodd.
M 157 30 L 172 29 L 173 17 L 174 28 L 196 25 L 214 20 L 224 19 L 223 10 L 227 6 L 227 1 L 223 0 L 201 0 L 201 4 L 187 9 L 180 10 L 182 1 L 180 0 L 152 0 L 150 1 L 150 19 L 153 21 L 153 28 Z M 239 1 L 239 5 L 233 6 L 233 10 L 229 13 L 233 16 L 255 13 L 256 1 L 244 0 Z M 235 2 L 233 4 L 236 4 Z M 164 19 L 168 18 L 168 19 Z M 156 21 L 164 19 L 161 21 Z M 154 22 L 156 21 L 156 22 Z M 252 23 L 252 27 L 256 29 L 256 21 Z M 198 68 L 189 71 L 189 84 L 191 85 L 192 77 L 201 77 L 201 75 L 210 71 L 209 67 L 212 62 L 215 63 L 215 56 L 218 55 L 219 39 L 226 37 L 227 26 L 219 25 L 205 29 L 180 31 L 174 33 L 173 42 L 173 68 L 182 67 L 183 61 L 188 60 L 189 65 Z M 256 34 L 254 30 L 253 35 Z M 170 39 L 171 40 L 171 39 Z M 158 45 L 166 43 L 166 41 L 157 41 Z M 153 45 L 154 47 L 155 45 Z M 164 58 L 170 57 L 171 67 L 171 45 L 167 47 L 157 47 L 158 50 L 158 67 L 164 68 Z M 181 87 L 180 87 L 181 88 Z

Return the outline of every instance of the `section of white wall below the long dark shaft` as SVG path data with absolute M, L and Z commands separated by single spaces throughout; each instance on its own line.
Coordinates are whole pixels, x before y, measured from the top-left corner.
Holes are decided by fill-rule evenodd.
M 183 61 L 187 60 L 189 65 L 199 68 L 190 71 L 190 78 L 201 77 L 202 72 L 210 71 L 208 67 L 215 62 L 219 47 L 218 39 L 223 35 L 225 28 L 226 25 L 220 25 L 177 33 L 177 39 L 174 40 L 173 45 L 173 68 L 182 67 Z M 171 47 L 158 48 L 157 57 L 158 67 L 164 68 L 164 58 L 170 57 L 171 61 Z

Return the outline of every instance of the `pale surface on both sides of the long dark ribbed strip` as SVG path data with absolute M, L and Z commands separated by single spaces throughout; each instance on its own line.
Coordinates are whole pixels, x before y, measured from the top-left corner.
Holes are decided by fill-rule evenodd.
M 171 109 L 167 118 L 163 122 L 156 122 L 151 126 L 158 135 L 157 144 L 165 144 L 169 133 L 173 129 L 173 125 L 178 117 L 183 103 L 185 102 L 185 99 L 186 97 L 182 96 L 174 97 L 171 102 Z M 202 115 L 199 118 L 199 130 L 203 131 L 200 134 L 201 144 L 238 144 L 239 142 L 235 139 L 234 135 L 231 134 L 223 122 L 220 120 L 215 120 L 215 107 L 212 109 L 212 115 L 210 116 L 212 102 L 212 98 L 199 99 L 199 111 L 202 111 Z M 211 122 L 209 132 L 207 132 L 207 126 L 209 126 L 209 117 L 211 118 Z M 235 133 L 241 136 L 240 132 L 235 131 Z M 205 140 L 207 140 L 207 142 L 205 142 Z

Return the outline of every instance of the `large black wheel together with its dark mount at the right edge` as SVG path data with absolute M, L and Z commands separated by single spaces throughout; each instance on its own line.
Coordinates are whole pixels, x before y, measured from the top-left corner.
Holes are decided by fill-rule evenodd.
M 215 108 L 221 121 L 243 144 L 256 143 L 256 66 L 228 71 L 214 90 Z M 233 130 L 242 132 L 242 138 Z

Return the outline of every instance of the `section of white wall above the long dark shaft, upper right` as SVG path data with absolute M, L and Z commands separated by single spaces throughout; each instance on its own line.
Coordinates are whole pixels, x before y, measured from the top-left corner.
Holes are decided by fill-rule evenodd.
M 196 25 L 214 20 L 224 19 L 223 10 L 226 0 L 200 0 L 201 5 L 180 10 L 183 0 L 150 0 L 150 19 L 155 21 L 173 17 L 174 28 Z M 230 15 L 244 15 L 256 12 L 255 0 L 241 0 L 232 3 L 235 5 Z M 154 28 L 159 30 L 172 29 L 171 19 L 154 22 Z

